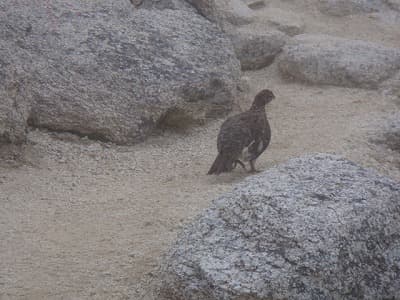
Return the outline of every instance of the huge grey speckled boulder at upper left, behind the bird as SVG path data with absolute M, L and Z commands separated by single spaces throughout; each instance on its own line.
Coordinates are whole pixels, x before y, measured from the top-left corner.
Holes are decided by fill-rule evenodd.
M 0 0 L 3 53 L 32 74 L 33 126 L 118 144 L 229 111 L 231 42 L 198 14 L 129 1 Z

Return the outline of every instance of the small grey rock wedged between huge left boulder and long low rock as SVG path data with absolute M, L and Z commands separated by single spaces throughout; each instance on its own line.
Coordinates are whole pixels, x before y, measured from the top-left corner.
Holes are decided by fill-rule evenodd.
M 287 36 L 279 31 L 256 32 L 247 27 L 238 28 L 229 36 L 242 70 L 270 65 L 287 40 Z

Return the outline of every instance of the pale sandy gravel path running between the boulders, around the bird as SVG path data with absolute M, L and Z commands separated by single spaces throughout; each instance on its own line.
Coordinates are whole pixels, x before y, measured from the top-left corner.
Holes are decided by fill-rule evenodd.
M 309 32 L 362 34 L 400 48 L 398 30 L 376 27 L 376 19 L 343 22 L 294 1 L 270 3 L 308 17 Z M 398 154 L 370 142 L 399 100 L 285 82 L 275 65 L 245 75 L 251 89 L 243 109 L 261 88 L 277 96 L 267 107 L 273 139 L 259 169 L 333 152 L 400 180 Z M 0 164 L 0 299 L 155 299 L 154 272 L 181 226 L 248 176 L 240 169 L 205 175 L 222 121 L 133 147 L 31 132 L 25 163 Z

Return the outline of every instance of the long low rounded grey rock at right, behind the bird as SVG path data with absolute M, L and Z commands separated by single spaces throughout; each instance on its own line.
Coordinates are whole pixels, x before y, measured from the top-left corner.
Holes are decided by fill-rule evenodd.
M 400 70 L 400 49 L 302 34 L 285 45 L 279 68 L 305 82 L 374 89 Z

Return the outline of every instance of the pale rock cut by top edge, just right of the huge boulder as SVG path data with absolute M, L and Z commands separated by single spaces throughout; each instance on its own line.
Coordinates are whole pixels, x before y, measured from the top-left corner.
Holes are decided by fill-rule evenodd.
M 212 22 L 245 25 L 254 21 L 253 11 L 241 0 L 187 0 L 198 12 Z

